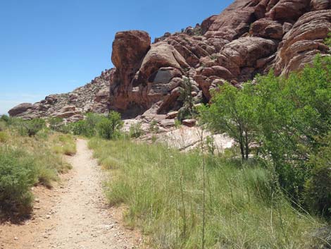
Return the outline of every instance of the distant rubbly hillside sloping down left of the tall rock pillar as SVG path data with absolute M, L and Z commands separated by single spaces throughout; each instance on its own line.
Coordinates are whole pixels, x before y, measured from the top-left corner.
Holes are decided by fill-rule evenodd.
M 35 104 L 23 103 L 8 111 L 9 115 L 23 119 L 59 117 L 67 121 L 83 119 L 82 114 L 93 111 L 104 113 L 109 105 L 109 82 L 114 70 L 106 70 L 90 83 L 73 92 L 46 96 Z

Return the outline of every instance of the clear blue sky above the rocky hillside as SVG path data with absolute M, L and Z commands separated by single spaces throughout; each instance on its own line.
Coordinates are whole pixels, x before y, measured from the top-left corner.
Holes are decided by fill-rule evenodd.
M 201 23 L 232 1 L 1 0 L 0 114 L 69 92 L 111 68 L 120 30 L 154 37 Z

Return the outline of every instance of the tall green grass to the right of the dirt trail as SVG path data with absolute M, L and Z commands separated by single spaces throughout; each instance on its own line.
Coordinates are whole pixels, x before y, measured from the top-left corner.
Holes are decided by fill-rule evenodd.
M 162 145 L 93 138 L 94 156 L 112 169 L 105 191 L 126 205 L 125 220 L 148 235 L 152 248 L 312 248 L 320 221 L 297 212 L 273 188 L 261 166 L 206 156 L 203 203 L 201 154 Z M 204 206 L 205 205 L 205 206 Z

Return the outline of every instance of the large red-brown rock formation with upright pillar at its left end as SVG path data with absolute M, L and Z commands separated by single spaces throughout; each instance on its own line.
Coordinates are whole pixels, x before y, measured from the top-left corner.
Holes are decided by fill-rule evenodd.
M 149 44 L 146 32 L 118 32 L 113 42 L 115 78 L 111 109 L 137 116 L 177 111 L 185 80 L 195 104 L 210 90 L 239 86 L 275 68 L 287 75 L 328 54 L 330 0 L 236 0 L 219 15 Z

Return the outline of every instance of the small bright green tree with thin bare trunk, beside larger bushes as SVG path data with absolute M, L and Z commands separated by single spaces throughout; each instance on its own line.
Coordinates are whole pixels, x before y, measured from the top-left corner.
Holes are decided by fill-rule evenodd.
M 202 123 L 217 133 L 227 133 L 238 142 L 242 159 L 249 158 L 249 143 L 256 130 L 252 88 L 249 83 L 243 90 L 225 83 L 213 92 L 212 104 L 200 109 Z

